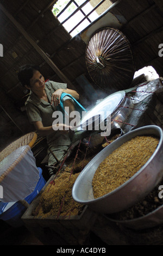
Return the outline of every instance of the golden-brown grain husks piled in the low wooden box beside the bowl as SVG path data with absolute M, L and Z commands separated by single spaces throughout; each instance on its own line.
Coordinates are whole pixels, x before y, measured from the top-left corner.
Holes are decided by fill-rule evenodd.
M 72 198 L 72 187 L 79 173 L 62 173 L 55 183 L 48 184 L 40 197 L 40 202 L 34 216 L 46 218 L 48 216 L 67 217 L 78 215 L 83 205 L 76 203 Z

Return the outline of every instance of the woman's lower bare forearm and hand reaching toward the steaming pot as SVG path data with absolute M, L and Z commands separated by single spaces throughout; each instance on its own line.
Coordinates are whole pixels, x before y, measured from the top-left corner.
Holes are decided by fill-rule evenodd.
M 52 134 L 54 132 L 53 126 L 44 127 L 41 121 L 35 121 L 32 123 L 34 124 L 36 131 L 39 132 L 39 134 L 42 136 L 46 136 L 46 135 Z M 58 130 L 60 130 L 60 132 L 62 130 L 64 132 L 65 131 L 67 132 L 70 128 L 70 126 L 67 126 L 65 124 L 56 124 L 55 126 L 58 126 Z M 65 130 L 66 127 L 68 127 L 68 129 Z

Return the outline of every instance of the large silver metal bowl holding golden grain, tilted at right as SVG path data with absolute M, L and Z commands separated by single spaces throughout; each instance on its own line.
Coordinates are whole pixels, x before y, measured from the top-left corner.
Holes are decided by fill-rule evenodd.
M 120 187 L 95 199 L 93 197 L 92 179 L 99 164 L 123 143 L 141 135 L 159 137 L 158 147 L 151 158 L 136 174 Z M 139 202 L 161 181 L 163 176 L 162 152 L 163 131 L 159 126 L 149 125 L 128 132 L 104 148 L 87 164 L 74 183 L 72 189 L 73 199 L 78 203 L 89 205 L 92 210 L 103 214 L 126 210 Z

